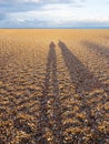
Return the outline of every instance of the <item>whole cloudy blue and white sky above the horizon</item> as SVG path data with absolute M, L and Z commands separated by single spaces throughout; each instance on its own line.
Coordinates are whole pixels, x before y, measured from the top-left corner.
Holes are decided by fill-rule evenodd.
M 0 0 L 0 28 L 109 27 L 109 0 Z

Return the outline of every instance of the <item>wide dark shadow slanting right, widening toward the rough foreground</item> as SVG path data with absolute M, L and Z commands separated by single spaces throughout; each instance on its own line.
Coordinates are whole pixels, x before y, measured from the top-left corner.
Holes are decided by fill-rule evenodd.
M 62 41 L 59 41 L 58 44 L 69 70 L 71 81 L 76 86 L 76 91 L 82 93 L 100 86 L 93 74 L 71 53 L 67 45 Z

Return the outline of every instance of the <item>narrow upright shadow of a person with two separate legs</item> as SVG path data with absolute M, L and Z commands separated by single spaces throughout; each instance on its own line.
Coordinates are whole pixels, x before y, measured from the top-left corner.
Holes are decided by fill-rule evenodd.
M 40 143 L 48 144 L 48 140 L 46 136 L 46 130 L 50 130 L 53 135 L 53 143 L 61 144 L 62 143 L 62 135 L 61 135 L 61 104 L 59 100 L 59 85 L 58 85 L 58 78 L 57 78 L 57 58 L 56 58 L 56 45 L 53 42 L 49 45 L 50 50 L 48 53 L 47 60 L 47 70 L 46 70 L 46 79 L 44 79 L 44 86 L 42 91 L 42 96 L 40 97 Z M 51 89 L 51 90 L 50 90 Z M 50 92 L 52 91 L 52 92 Z M 50 100 L 53 102 L 50 103 Z M 48 103 L 50 109 L 52 109 L 53 114 L 50 116 L 48 114 Z M 49 117 L 50 116 L 50 117 Z M 51 122 L 50 122 L 51 121 Z M 52 123 L 52 124 L 51 124 Z M 44 138 L 43 138 L 44 137 Z

